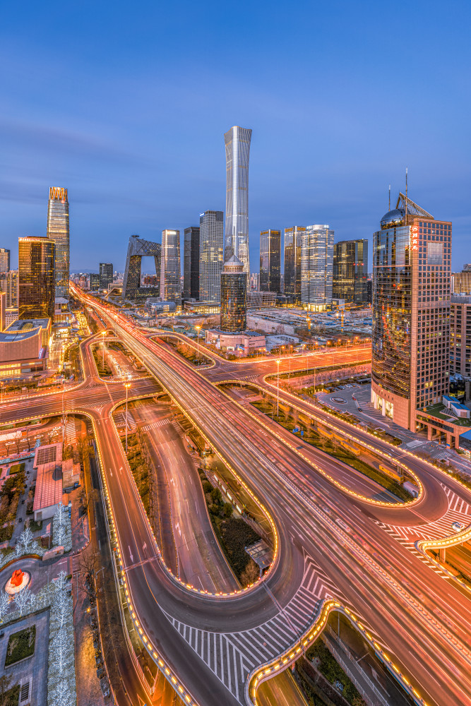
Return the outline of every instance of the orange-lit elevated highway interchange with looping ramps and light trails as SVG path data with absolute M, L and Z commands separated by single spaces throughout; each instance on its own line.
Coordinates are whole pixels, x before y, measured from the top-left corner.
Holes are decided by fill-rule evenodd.
M 292 645 L 304 633 L 311 634 L 321 602 L 333 597 L 360 618 L 378 651 L 386 652 L 424 703 L 471 705 L 467 594 L 385 531 L 420 526 L 426 533 L 427 525 L 446 515 L 453 497 L 464 501 L 460 507 L 465 518 L 470 491 L 426 462 L 330 418 L 358 443 L 400 456 L 424 486 L 422 498 L 408 508 L 374 503 L 371 496 L 369 501 L 355 498 L 324 477 L 309 453 L 331 477 L 345 477 L 340 463 L 288 445 L 268 422 L 262 426 L 255 414 L 205 378 L 214 376 L 215 368 L 191 369 L 126 319 L 113 320 L 105 307 L 95 306 L 263 503 L 277 530 L 273 567 L 250 590 L 215 597 L 175 580 L 160 560 L 112 421 L 122 389 L 97 380 L 93 357 L 83 347 L 85 382 L 64 395 L 66 409 L 86 412 L 94 421 L 136 626 L 186 702 L 246 702 L 248 675 L 279 655 L 286 655 L 288 664 Z M 233 377 L 234 370 L 228 371 L 227 378 Z M 133 382 L 132 396 L 156 390 L 152 378 L 144 378 Z M 280 398 L 284 395 L 290 399 L 280 390 Z M 326 420 L 325 412 L 295 402 L 312 417 Z M 45 417 L 61 409 L 61 395 L 9 402 L 4 409 L 5 421 Z

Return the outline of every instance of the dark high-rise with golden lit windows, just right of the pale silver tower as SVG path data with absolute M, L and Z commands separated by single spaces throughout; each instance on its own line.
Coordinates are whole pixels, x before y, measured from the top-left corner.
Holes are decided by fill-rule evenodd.
M 368 303 L 368 241 L 341 240 L 333 246 L 333 299 Z

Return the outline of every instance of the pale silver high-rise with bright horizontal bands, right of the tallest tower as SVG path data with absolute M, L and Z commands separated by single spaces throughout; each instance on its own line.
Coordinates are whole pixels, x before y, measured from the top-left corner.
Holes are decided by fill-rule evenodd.
M 308 225 L 301 238 L 301 301 L 308 307 L 332 300 L 333 230 Z

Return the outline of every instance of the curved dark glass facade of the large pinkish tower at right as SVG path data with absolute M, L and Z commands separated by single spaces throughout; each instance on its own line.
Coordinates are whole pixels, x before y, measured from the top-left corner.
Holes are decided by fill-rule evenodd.
M 410 396 L 412 263 L 410 227 L 374 234 L 371 377 L 395 395 Z

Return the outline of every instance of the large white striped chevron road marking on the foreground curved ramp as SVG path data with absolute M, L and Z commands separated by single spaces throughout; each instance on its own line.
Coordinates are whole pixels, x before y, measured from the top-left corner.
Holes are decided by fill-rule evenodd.
M 268 594 L 273 598 L 268 587 Z M 245 703 L 244 684 L 256 666 L 285 652 L 314 623 L 323 599 L 344 600 L 333 582 L 304 556 L 304 575 L 291 601 L 274 618 L 239 633 L 213 633 L 180 623 L 165 613 L 168 621 L 205 662 L 239 703 Z M 164 611 L 165 612 L 165 611 Z

